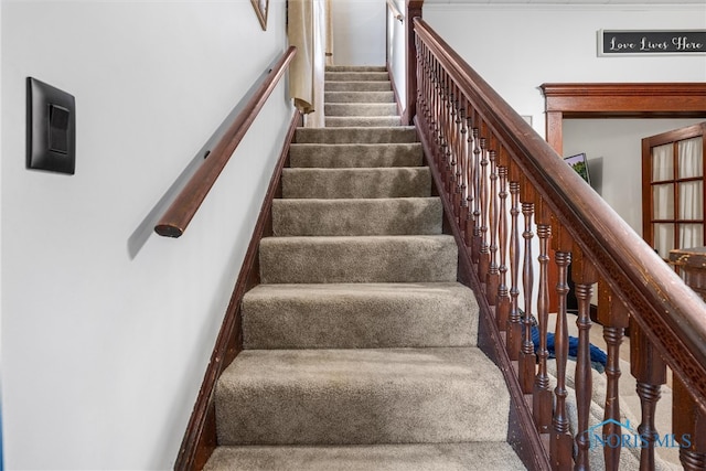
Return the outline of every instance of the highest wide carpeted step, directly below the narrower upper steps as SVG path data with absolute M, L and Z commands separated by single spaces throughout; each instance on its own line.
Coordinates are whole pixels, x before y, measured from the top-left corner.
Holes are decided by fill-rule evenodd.
M 417 142 L 414 126 L 391 128 L 298 128 L 297 143 L 404 143 Z

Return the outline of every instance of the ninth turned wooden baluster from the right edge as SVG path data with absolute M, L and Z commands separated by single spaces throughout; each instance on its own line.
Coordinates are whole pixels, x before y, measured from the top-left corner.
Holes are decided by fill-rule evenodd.
M 500 245 L 500 267 L 498 300 L 495 301 L 495 323 L 498 330 L 505 332 L 510 320 L 510 291 L 507 289 L 507 164 L 510 156 L 504 147 L 498 154 L 498 176 L 500 178 L 500 217 L 498 220 L 498 239 Z

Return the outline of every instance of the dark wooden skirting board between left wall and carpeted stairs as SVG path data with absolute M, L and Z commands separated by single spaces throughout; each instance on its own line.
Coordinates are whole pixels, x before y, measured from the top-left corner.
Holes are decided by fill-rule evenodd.
M 271 235 L 271 206 L 272 200 L 281 195 L 280 179 L 282 168 L 289 162 L 289 146 L 291 144 L 297 127 L 301 125 L 301 114 L 295 111 L 285 137 L 281 153 L 260 206 L 260 213 L 253 231 L 253 236 L 240 267 L 240 272 L 235 282 L 225 318 L 221 324 L 211 360 L 204 374 L 196 403 L 191 413 L 186 431 L 179 449 L 174 470 L 193 471 L 201 470 L 208 461 L 211 453 L 217 446 L 216 417 L 214 393 L 221 373 L 233 362 L 243 350 L 243 330 L 240 322 L 240 301 L 246 291 L 259 283 L 258 248 L 263 237 Z

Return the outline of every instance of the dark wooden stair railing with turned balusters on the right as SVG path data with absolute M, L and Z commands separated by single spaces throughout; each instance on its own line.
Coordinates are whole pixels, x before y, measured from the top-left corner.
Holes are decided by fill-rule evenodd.
M 680 447 L 686 470 L 706 469 L 706 304 L 420 18 L 414 19 L 414 32 L 417 94 L 410 89 L 408 95 L 416 99 L 415 124 L 452 215 L 450 231 L 466 247 L 460 277 L 479 295 L 485 313 L 479 342 L 506 373 L 515 405 L 511 422 L 522 436 L 516 450 L 525 463 L 588 470 L 591 448 L 602 446 L 605 469 L 617 470 L 621 448 L 637 443 L 623 437 L 634 433 L 641 470 L 654 469 L 655 447 L 665 440 Z M 556 287 L 549 286 L 550 263 L 558 268 Z M 569 266 L 579 339 L 571 372 Z M 597 282 L 597 320 L 608 345 L 607 390 L 605 420 L 590 427 L 589 311 Z M 558 296 L 556 325 L 548 325 L 552 289 Z M 535 318 L 538 345 L 532 336 Z M 621 422 L 618 394 L 620 345 L 628 328 L 630 370 L 642 407 L 641 424 L 632 431 Z M 555 335 L 555 387 L 549 331 Z M 674 377 L 673 429 L 657 431 L 654 415 L 666 366 Z M 567 409 L 571 381 L 573 431 Z

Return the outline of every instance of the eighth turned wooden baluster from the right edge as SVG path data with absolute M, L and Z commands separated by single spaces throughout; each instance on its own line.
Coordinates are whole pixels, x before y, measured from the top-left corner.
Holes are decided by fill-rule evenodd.
M 522 315 L 520 314 L 520 169 L 512 161 L 510 171 L 510 315 L 507 318 L 507 356 L 520 358 L 522 345 Z

